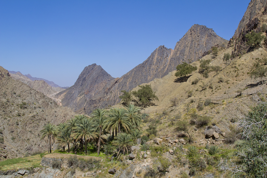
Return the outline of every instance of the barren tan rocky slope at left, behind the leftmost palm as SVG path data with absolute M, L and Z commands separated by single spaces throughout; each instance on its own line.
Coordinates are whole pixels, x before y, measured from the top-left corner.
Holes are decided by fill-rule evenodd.
M 58 106 L 43 93 L 13 80 L 1 66 L 0 91 L 0 129 L 4 137 L 4 144 L 0 144 L 3 148 L 0 160 L 47 150 L 45 141 L 40 140 L 40 130 L 44 124 L 59 124 L 75 115 L 72 110 Z

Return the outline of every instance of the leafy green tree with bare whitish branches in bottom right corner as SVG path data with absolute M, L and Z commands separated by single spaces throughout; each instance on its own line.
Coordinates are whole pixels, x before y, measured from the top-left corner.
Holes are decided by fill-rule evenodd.
M 264 178 L 267 176 L 267 106 L 260 104 L 240 118 L 239 129 L 244 140 L 236 141 L 237 151 L 230 161 L 220 163 L 223 171 L 235 177 Z

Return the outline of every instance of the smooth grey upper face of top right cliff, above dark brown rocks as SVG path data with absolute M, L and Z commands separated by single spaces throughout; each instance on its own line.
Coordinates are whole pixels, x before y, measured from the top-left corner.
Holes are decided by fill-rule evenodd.
M 266 7 L 266 5 L 267 0 L 251 0 L 243 18 L 241 19 L 237 29 L 235 30 L 233 37 L 238 38 L 239 34 L 249 23 L 249 21 L 251 21 L 261 11 L 262 8 Z

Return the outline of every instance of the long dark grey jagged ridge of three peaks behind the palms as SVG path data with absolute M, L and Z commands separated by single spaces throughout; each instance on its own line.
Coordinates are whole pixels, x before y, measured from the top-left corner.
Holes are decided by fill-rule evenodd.
M 224 45 L 228 41 L 219 37 L 212 29 L 203 25 L 193 25 L 187 33 L 176 43 L 174 50 L 159 46 L 142 64 L 139 64 L 120 78 L 111 79 L 101 68 L 100 76 L 93 77 L 93 80 L 85 80 L 87 76 L 96 73 L 90 65 L 80 74 L 76 83 L 66 91 L 57 94 L 62 100 L 63 106 L 72 108 L 75 112 L 89 113 L 96 107 L 114 105 L 120 101 L 121 90 L 129 91 L 136 86 L 152 81 L 154 78 L 161 78 L 176 69 L 181 62 L 193 62 L 202 57 L 205 51 L 214 45 Z M 99 66 L 100 67 L 100 66 Z M 92 76 L 95 76 L 93 74 Z M 81 80 L 83 79 L 83 80 Z M 102 81 L 100 85 L 100 80 Z M 104 82 L 103 82 L 104 81 Z M 104 84 L 106 86 L 104 86 Z M 97 89 L 95 89 L 95 87 Z M 88 94 L 85 94 L 88 93 Z

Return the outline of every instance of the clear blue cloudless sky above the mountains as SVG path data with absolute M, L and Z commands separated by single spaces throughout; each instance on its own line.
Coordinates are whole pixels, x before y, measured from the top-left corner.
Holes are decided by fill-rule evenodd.
M 194 24 L 229 40 L 250 0 L 0 1 L 0 66 L 71 86 L 96 63 L 121 77 Z

